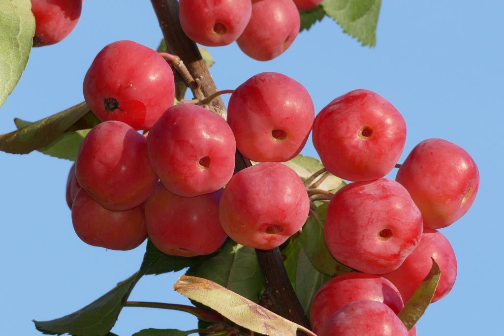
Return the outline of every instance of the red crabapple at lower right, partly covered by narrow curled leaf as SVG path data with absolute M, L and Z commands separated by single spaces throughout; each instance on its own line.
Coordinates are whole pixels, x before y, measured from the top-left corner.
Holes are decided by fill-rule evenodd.
M 445 297 L 453 288 L 457 279 L 457 259 L 452 245 L 439 231 L 424 229 L 422 239 L 403 264 L 392 273 L 384 274 L 401 293 L 404 302 L 408 302 L 416 288 L 427 276 L 434 258 L 441 270 L 432 302 Z

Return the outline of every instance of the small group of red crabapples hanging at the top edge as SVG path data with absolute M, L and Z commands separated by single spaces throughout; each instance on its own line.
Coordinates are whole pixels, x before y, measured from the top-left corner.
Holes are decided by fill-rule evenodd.
M 299 10 L 322 0 L 179 0 L 184 33 L 207 46 L 234 41 L 248 56 L 269 60 L 283 53 L 299 33 Z

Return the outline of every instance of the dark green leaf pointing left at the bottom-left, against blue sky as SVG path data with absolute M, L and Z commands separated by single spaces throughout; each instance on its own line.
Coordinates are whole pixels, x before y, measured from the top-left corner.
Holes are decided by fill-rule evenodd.
M 142 275 L 137 272 L 86 307 L 50 321 L 35 321 L 38 331 L 76 336 L 106 335 L 112 329 L 124 302 Z

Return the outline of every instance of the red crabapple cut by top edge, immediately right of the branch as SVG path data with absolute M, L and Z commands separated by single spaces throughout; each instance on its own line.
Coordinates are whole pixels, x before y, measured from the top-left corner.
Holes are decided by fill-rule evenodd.
M 213 47 L 236 41 L 252 13 L 250 0 L 180 0 L 178 6 L 185 35 Z

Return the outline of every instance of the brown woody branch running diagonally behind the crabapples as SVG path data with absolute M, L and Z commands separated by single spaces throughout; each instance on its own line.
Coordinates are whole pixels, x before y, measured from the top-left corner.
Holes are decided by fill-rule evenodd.
M 180 57 L 188 71 L 200 82 L 200 88 L 205 97 L 217 92 L 196 43 L 182 31 L 178 20 L 178 2 L 176 0 L 151 0 L 151 3 L 163 32 L 168 52 Z M 209 107 L 222 116 L 226 115 L 226 107 L 220 97 L 213 99 Z M 250 166 L 250 162 L 236 151 L 235 172 L 247 166 Z M 308 318 L 291 286 L 279 249 L 256 249 L 256 254 L 263 271 L 265 291 L 271 298 L 273 308 L 283 317 L 309 328 Z

